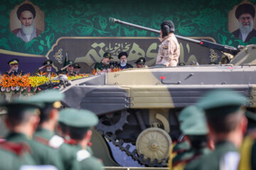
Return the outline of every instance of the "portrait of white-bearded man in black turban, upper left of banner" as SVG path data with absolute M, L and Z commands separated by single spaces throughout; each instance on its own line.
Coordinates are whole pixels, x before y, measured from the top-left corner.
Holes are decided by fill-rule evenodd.
M 33 38 L 41 34 L 41 30 L 34 27 L 36 18 L 36 9 L 31 4 L 22 4 L 17 10 L 18 20 L 21 22 L 21 28 L 16 28 L 12 32 L 25 42 L 30 42 Z

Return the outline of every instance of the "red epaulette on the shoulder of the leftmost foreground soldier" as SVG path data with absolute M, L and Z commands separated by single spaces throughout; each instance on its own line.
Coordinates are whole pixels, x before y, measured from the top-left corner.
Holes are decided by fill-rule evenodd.
M 6 140 L 0 141 L 0 149 L 12 152 L 21 156 L 24 152 L 31 152 L 31 148 L 26 143 L 14 143 Z

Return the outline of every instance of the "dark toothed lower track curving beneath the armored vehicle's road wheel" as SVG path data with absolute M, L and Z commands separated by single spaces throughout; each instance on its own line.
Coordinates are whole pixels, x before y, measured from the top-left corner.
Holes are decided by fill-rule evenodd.
M 109 134 L 103 134 L 100 132 L 107 140 L 113 143 L 114 146 L 119 147 L 120 150 L 124 151 L 127 156 L 132 157 L 134 161 L 139 162 L 139 164 L 142 164 L 146 167 L 166 167 L 168 159 L 162 159 L 159 163 L 159 160 L 154 159 L 153 162 L 151 162 L 151 159 L 148 158 L 144 160 L 144 155 L 141 154 L 140 156 L 137 154 L 137 149 L 134 149 L 132 152 L 129 151 L 131 145 L 127 144 L 125 147 L 123 146 L 124 141 L 118 140 L 116 135 L 109 135 Z

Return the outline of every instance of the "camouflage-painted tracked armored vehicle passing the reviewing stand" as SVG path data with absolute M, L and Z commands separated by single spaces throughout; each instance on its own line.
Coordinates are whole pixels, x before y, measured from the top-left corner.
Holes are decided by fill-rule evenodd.
M 166 166 L 172 141 L 182 136 L 178 114 L 206 91 L 234 89 L 250 98 L 248 109 L 256 107 L 256 45 L 239 51 L 203 44 L 235 57 L 230 64 L 126 69 L 63 81 L 63 104 L 94 112 L 100 119 L 97 131 L 140 164 Z M 131 150 L 129 144 L 137 149 Z

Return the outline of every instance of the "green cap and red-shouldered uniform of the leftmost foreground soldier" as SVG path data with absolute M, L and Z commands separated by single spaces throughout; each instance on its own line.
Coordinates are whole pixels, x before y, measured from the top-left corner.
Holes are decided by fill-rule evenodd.
M 1 106 L 7 109 L 7 118 L 11 123 L 14 117 L 23 118 L 23 114 L 27 111 L 29 111 L 27 114 L 38 113 L 37 108 L 42 105 L 16 99 L 11 103 L 3 103 Z M 20 169 L 22 165 L 36 165 L 31 156 L 30 142 L 31 140 L 22 132 L 9 132 L 5 140 L 0 142 L 0 169 Z

